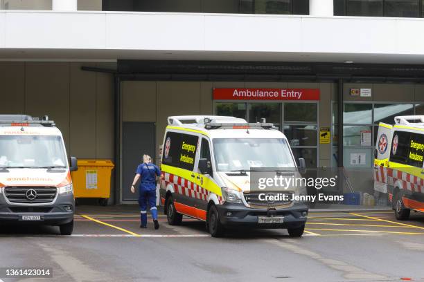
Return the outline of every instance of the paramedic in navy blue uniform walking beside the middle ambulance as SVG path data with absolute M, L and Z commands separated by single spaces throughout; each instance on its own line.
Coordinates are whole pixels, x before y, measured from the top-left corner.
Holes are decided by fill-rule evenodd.
M 161 171 L 156 164 L 152 164 L 152 158 L 148 155 L 143 156 L 143 163 L 137 167 L 136 176 L 132 181 L 131 191 L 135 193 L 135 185 L 140 179 L 139 185 L 139 205 L 140 205 L 140 228 L 147 228 L 147 206 L 150 207 L 154 229 L 159 229 L 157 221 L 156 207 L 156 177 L 161 176 Z M 162 178 L 163 176 L 161 176 Z

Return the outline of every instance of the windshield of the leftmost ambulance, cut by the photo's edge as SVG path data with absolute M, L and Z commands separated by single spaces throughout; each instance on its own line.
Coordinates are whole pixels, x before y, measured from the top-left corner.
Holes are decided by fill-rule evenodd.
M 66 167 L 62 137 L 0 135 L 0 168 Z

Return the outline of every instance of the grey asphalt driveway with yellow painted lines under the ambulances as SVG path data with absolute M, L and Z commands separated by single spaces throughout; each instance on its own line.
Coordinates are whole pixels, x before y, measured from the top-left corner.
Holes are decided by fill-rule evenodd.
M 52 267 L 50 279 L 3 281 L 424 281 L 424 216 L 311 212 L 307 232 L 235 230 L 204 223 L 139 229 L 136 210 L 79 207 L 72 236 L 56 227 L 0 230 L 0 267 Z M 0 281 L 1 281 L 0 279 Z

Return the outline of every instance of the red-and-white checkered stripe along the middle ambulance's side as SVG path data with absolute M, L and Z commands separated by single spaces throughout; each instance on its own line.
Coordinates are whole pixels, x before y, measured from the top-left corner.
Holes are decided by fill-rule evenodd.
M 187 180 L 186 178 L 182 178 L 168 172 L 164 172 L 164 180 L 162 181 L 164 182 L 165 187 L 167 187 L 169 184 L 173 185 L 175 193 L 199 200 L 208 200 L 208 196 L 211 193 L 210 191 L 200 187 L 194 182 Z M 222 196 L 217 195 L 217 197 L 219 203 L 222 204 L 224 202 Z

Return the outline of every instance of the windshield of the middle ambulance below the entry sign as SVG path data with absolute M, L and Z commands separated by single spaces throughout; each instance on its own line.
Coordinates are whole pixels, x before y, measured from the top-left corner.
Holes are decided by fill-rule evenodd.
M 251 167 L 296 167 L 284 139 L 213 140 L 218 171 L 249 171 Z

